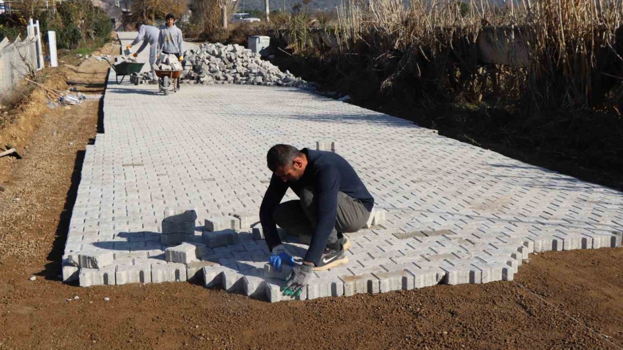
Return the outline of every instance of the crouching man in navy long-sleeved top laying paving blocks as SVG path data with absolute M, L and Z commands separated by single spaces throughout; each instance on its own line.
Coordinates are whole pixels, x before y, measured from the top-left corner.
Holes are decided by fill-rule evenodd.
M 333 152 L 276 144 L 266 158 L 273 175 L 260 206 L 260 222 L 266 244 L 273 253 L 271 263 L 293 261 L 292 253 L 277 234 L 276 225 L 290 235 L 311 237 L 302 265 L 293 268 L 283 292 L 300 294 L 313 270 L 326 270 L 348 262 L 345 250 L 350 242 L 343 233 L 364 227 L 374 198 L 346 159 Z M 280 204 L 288 188 L 299 200 Z

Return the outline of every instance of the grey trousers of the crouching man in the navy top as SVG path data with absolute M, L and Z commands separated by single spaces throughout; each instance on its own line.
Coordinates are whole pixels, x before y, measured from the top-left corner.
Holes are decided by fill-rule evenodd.
M 288 235 L 297 235 L 303 243 L 309 243 L 316 228 L 316 208 L 314 193 L 312 188 L 306 188 L 297 193 L 300 198 L 298 201 L 287 201 L 279 204 L 273 212 L 275 223 L 284 229 Z M 366 207 L 343 192 L 338 192 L 338 211 L 335 218 L 335 227 L 331 230 L 331 235 L 327 246 L 331 247 L 338 239 L 342 238 L 344 232 L 357 232 L 363 229 L 370 212 Z

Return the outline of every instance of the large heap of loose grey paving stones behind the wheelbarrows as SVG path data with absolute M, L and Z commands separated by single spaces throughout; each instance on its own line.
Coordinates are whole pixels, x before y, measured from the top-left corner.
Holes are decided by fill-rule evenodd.
M 202 84 L 245 84 L 283 87 L 305 87 L 307 82 L 287 70 L 282 72 L 240 45 L 204 43 L 184 52 L 186 68 L 183 78 Z

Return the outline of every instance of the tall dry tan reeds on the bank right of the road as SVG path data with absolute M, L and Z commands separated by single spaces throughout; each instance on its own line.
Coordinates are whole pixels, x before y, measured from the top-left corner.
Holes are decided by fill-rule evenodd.
M 621 1 L 530 0 L 505 8 L 487 2 L 350 0 L 338 11 L 338 52 L 401 52 L 382 88 L 415 75 L 419 95 L 451 91 L 470 102 L 483 95 L 527 102 L 530 111 L 612 110 L 621 106 Z M 505 39 L 526 42 L 528 67 L 482 65 L 476 40 L 483 26 L 511 26 Z M 517 35 L 517 37 L 515 37 Z M 617 40 L 617 35 L 618 39 Z M 450 68 L 449 68 L 450 67 Z

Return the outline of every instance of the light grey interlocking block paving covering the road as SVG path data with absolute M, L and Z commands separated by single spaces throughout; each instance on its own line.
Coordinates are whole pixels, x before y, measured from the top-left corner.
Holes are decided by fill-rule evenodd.
M 96 251 L 115 260 L 64 267 L 80 285 L 126 283 L 128 271 L 144 282 L 186 280 L 205 267 L 206 285 L 285 299 L 282 282 L 264 278 L 264 241 L 248 233 L 188 267 L 164 262 L 159 241 L 166 207 L 197 209 L 197 242 L 204 219 L 257 212 L 275 143 L 337 141 L 387 212 L 381 226 L 350 235 L 350 263 L 316 273 L 303 299 L 511 280 L 532 252 L 621 244 L 623 194 L 606 187 L 296 88 L 157 90 L 108 85 L 105 133 L 87 147 L 65 258 Z

